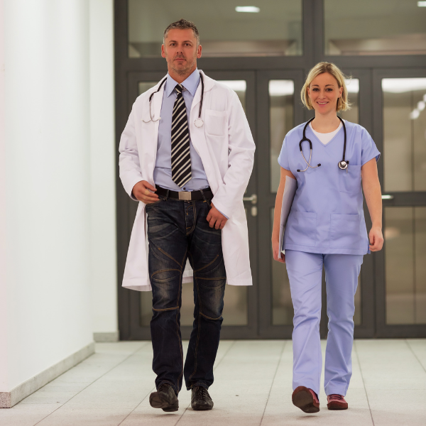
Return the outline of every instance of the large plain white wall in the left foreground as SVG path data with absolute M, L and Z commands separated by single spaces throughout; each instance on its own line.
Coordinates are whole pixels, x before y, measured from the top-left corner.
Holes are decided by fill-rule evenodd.
M 10 391 L 92 342 L 89 4 L 4 0 L 2 25 L 0 391 Z

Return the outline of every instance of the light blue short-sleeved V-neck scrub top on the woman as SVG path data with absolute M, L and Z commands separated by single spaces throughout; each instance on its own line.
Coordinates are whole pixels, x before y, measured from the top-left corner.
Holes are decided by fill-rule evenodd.
M 337 164 L 343 158 L 344 130 L 337 132 L 324 145 L 307 126 L 306 137 L 312 142 L 312 166 L 306 168 L 300 153 L 306 123 L 290 130 L 285 136 L 278 163 L 290 170 L 297 179 L 297 190 L 288 222 L 285 226 L 283 249 L 309 253 L 366 254 L 368 235 L 363 211 L 361 166 L 372 158 L 380 158 L 376 144 L 368 131 L 359 124 L 346 125 L 346 160 L 349 166 L 340 170 Z M 302 143 L 305 158 L 309 160 L 310 146 Z

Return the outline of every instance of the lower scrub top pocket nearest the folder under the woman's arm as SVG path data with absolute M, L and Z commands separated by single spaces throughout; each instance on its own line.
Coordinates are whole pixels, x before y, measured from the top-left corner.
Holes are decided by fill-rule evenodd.
M 315 246 L 317 242 L 317 214 L 312 212 L 290 212 L 285 233 L 285 243 L 299 246 Z

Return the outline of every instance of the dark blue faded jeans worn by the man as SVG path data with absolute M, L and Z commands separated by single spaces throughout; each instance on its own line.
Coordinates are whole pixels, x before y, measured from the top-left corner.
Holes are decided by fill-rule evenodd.
M 148 204 L 148 267 L 153 288 L 153 371 L 155 386 L 169 383 L 176 393 L 182 377 L 189 390 L 209 388 L 219 346 L 226 273 L 222 231 L 209 227 L 209 201 L 160 197 Z M 194 323 L 183 366 L 180 335 L 182 274 L 187 258 L 194 271 Z

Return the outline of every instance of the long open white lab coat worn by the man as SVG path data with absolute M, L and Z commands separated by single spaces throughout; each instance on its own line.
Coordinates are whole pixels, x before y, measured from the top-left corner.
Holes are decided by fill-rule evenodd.
M 249 261 L 249 235 L 243 195 L 253 169 L 255 145 L 244 110 L 236 93 L 204 75 L 204 101 L 201 117 L 204 126 L 198 128 L 201 83 L 192 102 L 189 126 L 192 145 L 202 160 L 207 180 L 212 188 L 214 206 L 227 217 L 222 229 L 222 251 L 226 280 L 231 285 L 252 285 Z M 148 98 L 159 83 L 141 94 L 133 104 L 129 121 L 121 134 L 120 178 L 124 189 L 131 195 L 137 182 L 146 180 L 154 184 L 153 172 L 157 155 L 159 121 L 150 119 Z M 158 119 L 163 102 L 163 87 L 152 98 L 151 111 Z M 133 197 L 132 197 L 133 198 Z M 133 198 L 134 200 L 134 198 Z M 145 204 L 139 202 L 131 232 L 123 287 L 149 291 L 148 244 L 146 243 Z M 189 262 L 183 282 L 192 280 Z

